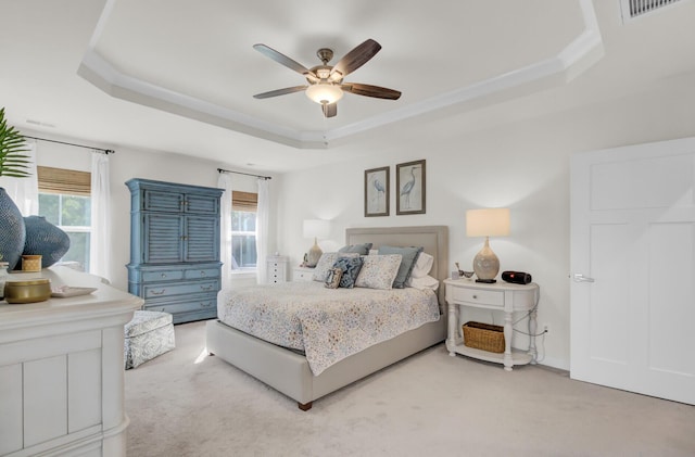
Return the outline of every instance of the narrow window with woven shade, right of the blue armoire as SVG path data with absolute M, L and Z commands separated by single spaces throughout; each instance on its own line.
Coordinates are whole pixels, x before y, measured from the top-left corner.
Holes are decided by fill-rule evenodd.
M 232 269 L 256 267 L 256 210 L 258 194 L 231 192 L 231 258 Z

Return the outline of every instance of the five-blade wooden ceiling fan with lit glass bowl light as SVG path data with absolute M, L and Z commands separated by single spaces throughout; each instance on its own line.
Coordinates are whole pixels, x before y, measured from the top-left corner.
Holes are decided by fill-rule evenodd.
M 324 116 L 333 117 L 338 114 L 337 102 L 343 97 L 343 92 L 388 100 L 397 100 L 401 97 L 400 91 L 386 87 L 343 81 L 345 76 L 359 68 L 379 52 L 381 45 L 372 39 L 368 39 L 355 47 L 333 66 L 328 65 L 328 62 L 333 58 L 333 50 L 321 48 L 316 52 L 321 64 L 313 68 L 306 68 L 304 65 L 265 45 L 254 45 L 253 49 L 301 74 L 308 82 L 308 85 L 304 86 L 287 87 L 285 89 L 256 93 L 253 96 L 255 99 L 268 99 L 270 97 L 285 96 L 304 90 L 306 97 L 321 105 Z

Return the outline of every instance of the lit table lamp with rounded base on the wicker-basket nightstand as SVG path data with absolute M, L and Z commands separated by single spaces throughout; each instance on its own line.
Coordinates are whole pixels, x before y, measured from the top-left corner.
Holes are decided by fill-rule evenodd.
M 473 258 L 477 282 L 496 282 L 500 259 L 490 249 L 490 237 L 509 234 L 509 208 L 482 208 L 466 212 L 466 236 L 485 237 L 485 244 Z

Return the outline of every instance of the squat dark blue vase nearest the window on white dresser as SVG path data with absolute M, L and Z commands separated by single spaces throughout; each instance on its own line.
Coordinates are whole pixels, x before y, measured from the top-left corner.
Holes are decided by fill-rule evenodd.
M 23 255 L 40 255 L 41 268 L 60 261 L 70 250 L 70 237 L 60 228 L 46 220 L 43 216 L 24 218 L 26 241 Z

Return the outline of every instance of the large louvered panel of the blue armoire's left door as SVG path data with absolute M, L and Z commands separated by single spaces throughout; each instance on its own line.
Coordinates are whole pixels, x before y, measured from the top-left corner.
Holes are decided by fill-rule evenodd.
M 144 258 L 151 264 L 181 262 L 181 217 L 151 213 L 144 216 Z

